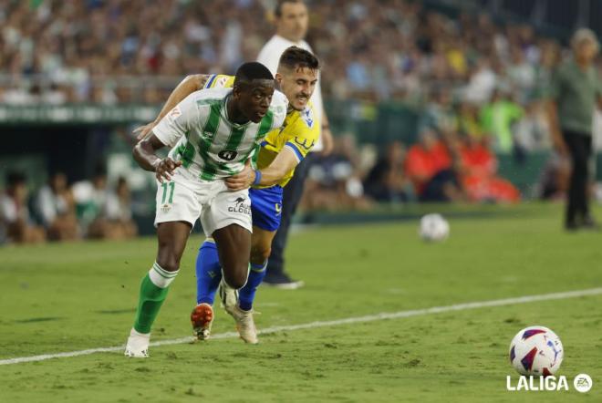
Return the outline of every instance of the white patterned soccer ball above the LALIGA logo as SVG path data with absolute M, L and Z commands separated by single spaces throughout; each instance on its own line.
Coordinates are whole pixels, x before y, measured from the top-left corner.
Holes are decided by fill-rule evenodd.
M 560 338 L 544 326 L 526 327 L 510 343 L 510 363 L 522 375 L 554 375 L 564 356 Z

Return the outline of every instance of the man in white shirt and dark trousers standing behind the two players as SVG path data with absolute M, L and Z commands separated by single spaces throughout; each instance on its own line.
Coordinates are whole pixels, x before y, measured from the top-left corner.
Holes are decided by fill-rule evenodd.
M 265 44 L 257 57 L 257 61 L 269 68 L 272 74 L 276 73 L 278 60 L 286 48 L 296 46 L 313 53 L 311 47 L 304 40 L 307 33 L 308 14 L 306 4 L 303 1 L 278 0 L 274 14 L 275 36 L 272 36 Z M 311 100 L 316 110 L 321 111 L 320 137 L 312 152 L 297 165 L 295 176 L 285 187 L 280 228 L 272 242 L 272 253 L 268 260 L 267 274 L 264 279 L 265 284 L 285 289 L 295 289 L 303 285 L 303 282 L 294 281 L 285 273 L 284 250 L 291 220 L 303 195 L 303 185 L 307 171 L 317 153 L 328 155 L 332 152 L 333 147 L 332 133 L 328 127 L 327 114 L 324 111 L 319 79 Z

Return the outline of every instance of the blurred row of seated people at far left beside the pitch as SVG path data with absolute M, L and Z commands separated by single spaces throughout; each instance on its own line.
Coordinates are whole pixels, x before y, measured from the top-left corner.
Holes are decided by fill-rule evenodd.
M 0 192 L 0 244 L 89 239 L 127 239 L 138 233 L 130 189 L 120 177 L 109 188 L 104 170 L 69 185 L 62 172 L 29 193 L 26 176 L 10 171 Z

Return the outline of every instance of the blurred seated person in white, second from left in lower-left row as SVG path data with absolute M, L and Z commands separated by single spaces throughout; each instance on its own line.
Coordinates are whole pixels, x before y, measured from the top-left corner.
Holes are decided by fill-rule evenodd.
M 48 184 L 38 191 L 36 213 L 47 230 L 49 240 L 78 238 L 75 201 L 67 187 L 67 177 L 64 173 L 57 172 L 52 175 Z

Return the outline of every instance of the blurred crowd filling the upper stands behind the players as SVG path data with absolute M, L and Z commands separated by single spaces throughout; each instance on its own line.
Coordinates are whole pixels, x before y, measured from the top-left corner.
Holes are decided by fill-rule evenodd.
M 274 3 L 5 1 L 0 79 L 10 88 L 0 101 L 158 102 L 182 76 L 254 59 Z M 530 26 L 452 19 L 411 0 L 306 3 L 309 42 L 330 67 L 320 80 L 328 97 L 416 99 L 445 85 L 483 103 L 507 79 L 523 102 L 549 69 L 552 42 Z

